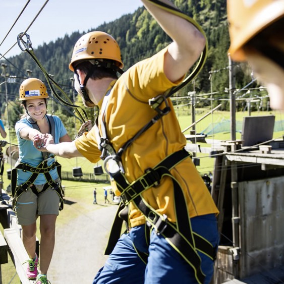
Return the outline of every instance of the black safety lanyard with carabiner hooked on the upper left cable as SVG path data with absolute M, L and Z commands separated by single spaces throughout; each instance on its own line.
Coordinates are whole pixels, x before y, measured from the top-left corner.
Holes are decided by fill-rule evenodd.
M 26 36 L 26 41 L 24 41 L 23 37 Z M 41 63 L 39 62 L 39 60 L 37 59 L 33 48 L 32 48 L 32 42 L 30 39 L 30 36 L 27 33 L 20 33 L 17 37 L 18 40 L 18 45 L 21 48 L 22 51 L 26 51 L 31 58 L 34 60 L 34 62 L 36 63 L 36 65 L 40 68 L 40 70 L 42 71 L 44 77 L 47 80 L 47 84 L 50 87 L 52 93 L 54 94 L 54 96 L 63 104 L 69 106 L 69 107 L 73 107 L 74 110 L 76 111 L 77 115 L 79 116 L 79 120 L 81 121 L 81 123 L 85 122 L 88 120 L 88 116 L 87 113 L 85 111 L 85 109 L 79 105 L 75 105 L 71 99 L 69 98 L 69 96 L 66 94 L 66 92 L 61 88 L 61 86 L 55 82 L 50 75 L 47 73 L 47 71 L 44 69 L 44 67 L 41 65 Z M 23 45 L 23 46 L 22 46 Z M 54 89 L 53 85 L 65 96 L 65 98 L 67 99 L 64 100 L 60 97 L 60 95 L 56 92 L 56 90 Z M 81 114 L 81 112 L 79 111 L 79 109 L 83 112 L 83 114 Z

